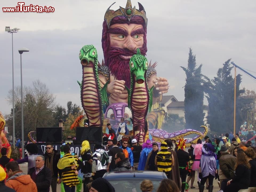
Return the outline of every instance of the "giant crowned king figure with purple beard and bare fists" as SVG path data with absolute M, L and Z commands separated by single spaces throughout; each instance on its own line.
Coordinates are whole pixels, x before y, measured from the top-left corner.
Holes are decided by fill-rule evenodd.
M 137 48 L 144 56 L 147 52 L 146 12 L 143 6 L 138 4 L 139 9 L 135 9 L 135 6 L 132 7 L 131 1 L 127 0 L 125 8 L 120 7 L 114 11 L 110 10 L 111 5 L 105 13 L 102 30 L 105 66 L 101 66 L 98 72 L 101 86 L 105 85 L 106 87 L 110 105 L 120 102 L 127 103 L 128 94 L 125 85 L 130 89 L 130 58 L 136 54 Z M 149 66 L 147 70 L 147 83 L 149 88 L 154 86 L 153 104 L 160 94 L 168 91 L 167 79 L 157 77 L 152 66 Z M 115 120 L 119 121 L 121 117 L 122 115 L 117 116 Z

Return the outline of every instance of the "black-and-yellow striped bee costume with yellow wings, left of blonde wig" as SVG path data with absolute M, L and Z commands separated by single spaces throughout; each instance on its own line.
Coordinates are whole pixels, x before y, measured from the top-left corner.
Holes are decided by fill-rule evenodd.
M 67 158 L 71 158 L 71 159 L 73 159 L 73 157 L 74 157 L 76 163 L 78 164 L 78 158 L 71 155 L 70 153 L 66 153 L 63 157 L 67 157 Z M 78 167 L 76 167 L 75 169 L 72 170 L 71 169 L 72 165 L 74 165 L 73 162 L 71 162 L 69 166 L 67 166 L 65 169 L 62 170 L 63 171 L 62 172 L 62 181 L 63 181 L 63 183 L 65 183 L 65 185 L 67 185 L 69 187 L 79 184 L 77 174 L 75 174 L 75 170 Z

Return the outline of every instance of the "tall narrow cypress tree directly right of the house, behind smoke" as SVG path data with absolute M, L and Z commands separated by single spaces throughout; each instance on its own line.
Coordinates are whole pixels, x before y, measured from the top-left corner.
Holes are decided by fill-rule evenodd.
M 202 64 L 196 68 L 195 55 L 189 49 L 187 68 L 181 67 L 186 73 L 185 91 L 185 120 L 186 129 L 198 129 L 203 125 L 205 113 L 203 113 L 203 97 L 206 87 L 209 87 L 209 79 L 201 74 Z

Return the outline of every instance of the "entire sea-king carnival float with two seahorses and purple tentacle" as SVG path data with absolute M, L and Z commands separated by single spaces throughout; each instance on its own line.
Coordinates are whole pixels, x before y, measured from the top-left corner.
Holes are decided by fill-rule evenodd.
M 125 8 L 107 9 L 102 30 L 102 63 L 98 62 L 94 45 L 85 45 L 80 50 L 82 81 L 78 84 L 86 115 L 75 119 L 70 129 L 87 121 L 90 127 L 102 127 L 103 133 L 108 133 L 107 123 L 117 131 L 120 119 L 124 118 L 129 135 L 139 145 L 147 139 L 177 141 L 190 134 L 196 136 L 186 143 L 196 143 L 207 134 L 206 126 L 201 126 L 205 129 L 203 133 L 193 129 L 167 133 L 161 129 L 165 111 L 159 107 L 159 101 L 168 91 L 168 81 L 157 77 L 156 63 L 151 64 L 145 57 L 148 19 L 144 7 L 139 2 L 138 5 L 136 9 L 127 0 Z

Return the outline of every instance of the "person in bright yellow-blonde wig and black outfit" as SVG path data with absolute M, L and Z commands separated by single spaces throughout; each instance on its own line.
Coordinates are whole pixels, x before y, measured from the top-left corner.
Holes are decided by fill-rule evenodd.
M 82 157 L 83 167 L 81 173 L 84 174 L 83 191 L 85 191 L 86 185 L 90 182 L 91 177 L 91 147 L 89 141 L 85 140 L 82 142 L 82 149 L 80 151 Z

